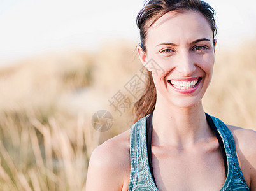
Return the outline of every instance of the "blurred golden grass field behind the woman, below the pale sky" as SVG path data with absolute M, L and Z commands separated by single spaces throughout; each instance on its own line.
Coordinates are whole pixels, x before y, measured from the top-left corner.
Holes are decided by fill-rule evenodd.
M 225 123 L 256 129 L 256 41 L 217 49 L 204 96 L 207 113 Z M 117 40 L 97 52 L 52 52 L 0 69 L 0 190 L 85 190 L 87 165 L 97 145 L 132 125 L 109 100 L 139 74 L 136 43 Z M 108 110 L 107 132 L 92 115 Z

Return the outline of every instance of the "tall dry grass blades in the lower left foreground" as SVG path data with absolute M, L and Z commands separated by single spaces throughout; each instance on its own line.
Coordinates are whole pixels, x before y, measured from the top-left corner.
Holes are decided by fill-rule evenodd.
M 0 190 L 84 190 L 99 132 L 88 128 L 83 116 L 75 127 L 51 117 L 43 124 L 38 116 L 1 115 Z

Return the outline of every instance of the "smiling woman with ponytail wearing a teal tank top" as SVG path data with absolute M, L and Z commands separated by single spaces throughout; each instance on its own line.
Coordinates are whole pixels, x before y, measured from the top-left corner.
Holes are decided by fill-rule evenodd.
M 225 125 L 202 106 L 215 60 L 213 8 L 150 0 L 137 24 L 149 73 L 138 122 L 94 150 L 87 190 L 256 190 L 255 131 Z

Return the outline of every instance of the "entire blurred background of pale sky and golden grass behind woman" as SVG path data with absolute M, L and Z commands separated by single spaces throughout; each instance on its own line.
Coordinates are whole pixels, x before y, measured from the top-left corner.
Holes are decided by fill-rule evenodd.
M 207 2 L 217 11 L 218 42 L 205 111 L 256 129 L 256 3 Z M 92 150 L 133 124 L 142 7 L 0 1 L 0 190 L 85 189 Z M 100 110 L 113 117 L 108 131 L 92 123 Z

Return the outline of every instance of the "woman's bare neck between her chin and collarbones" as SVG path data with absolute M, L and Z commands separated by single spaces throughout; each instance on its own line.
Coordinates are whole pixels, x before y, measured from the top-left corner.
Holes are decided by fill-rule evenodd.
M 201 101 L 191 108 L 176 108 L 157 101 L 153 112 L 152 143 L 191 146 L 212 136 Z

